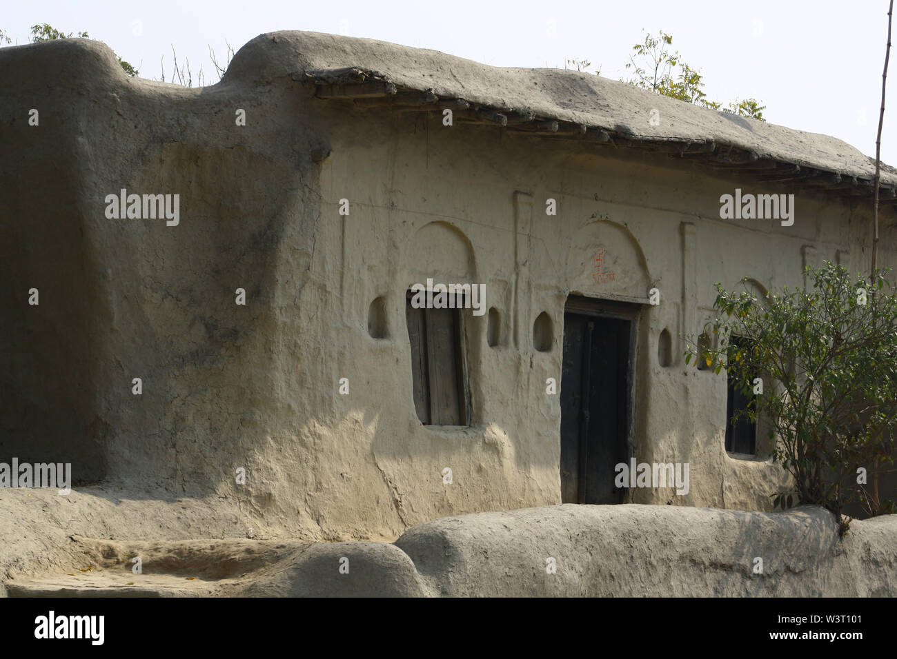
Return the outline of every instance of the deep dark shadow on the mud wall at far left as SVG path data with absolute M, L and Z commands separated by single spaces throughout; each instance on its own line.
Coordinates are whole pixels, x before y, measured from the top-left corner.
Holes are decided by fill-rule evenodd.
M 34 140 L 28 126 L 0 128 L 4 151 L 28 154 L 0 159 L 8 220 L 0 222 L 0 461 L 71 463 L 75 481 L 99 481 L 109 426 L 96 414 L 102 337 L 94 325 L 109 309 L 102 256 L 84 238 L 83 204 L 73 203 L 83 181 L 59 157 L 65 129 L 48 122 Z

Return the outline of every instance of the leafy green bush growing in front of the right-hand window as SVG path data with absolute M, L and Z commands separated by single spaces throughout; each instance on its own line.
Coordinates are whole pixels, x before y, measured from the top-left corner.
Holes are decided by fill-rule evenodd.
M 705 328 L 717 344 L 689 343 L 685 352 L 686 363 L 726 369 L 748 396 L 761 377 L 764 393 L 735 421 L 765 415 L 773 460 L 794 478 L 801 501 L 839 519 L 853 499 L 870 515 L 893 510 L 867 495 L 862 478 L 876 464 L 893 464 L 897 436 L 897 290 L 888 272 L 876 270 L 870 287 L 826 262 L 807 268 L 812 287 L 785 287 L 766 299 L 717 284 L 718 317 Z

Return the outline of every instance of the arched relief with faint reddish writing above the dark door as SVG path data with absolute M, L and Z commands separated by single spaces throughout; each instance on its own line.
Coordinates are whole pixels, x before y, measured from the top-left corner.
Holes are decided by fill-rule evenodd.
M 647 299 L 651 282 L 639 243 L 623 225 L 594 221 L 570 241 L 567 285 L 588 297 Z

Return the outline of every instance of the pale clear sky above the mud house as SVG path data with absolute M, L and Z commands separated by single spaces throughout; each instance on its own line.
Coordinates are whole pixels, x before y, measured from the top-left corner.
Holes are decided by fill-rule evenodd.
M 623 65 L 642 30 L 665 30 L 704 76 L 710 100 L 756 98 L 782 126 L 830 134 L 875 155 L 887 34 L 887 0 L 630 0 L 629 2 L 189 2 L 43 0 L 4 3 L 0 29 L 19 44 L 30 25 L 87 31 L 159 79 L 171 47 L 217 81 L 208 47 L 239 49 L 258 34 L 312 30 L 433 48 L 496 66 L 563 67 L 588 59 L 605 77 Z M 897 22 L 895 22 L 897 23 Z M 894 25 L 897 44 L 897 24 Z M 882 159 L 897 165 L 897 48 L 884 115 Z

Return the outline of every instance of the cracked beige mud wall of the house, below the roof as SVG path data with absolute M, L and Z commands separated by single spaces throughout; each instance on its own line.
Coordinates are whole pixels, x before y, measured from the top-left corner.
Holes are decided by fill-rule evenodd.
M 675 341 L 661 367 L 658 335 L 696 334 L 712 282 L 801 282 L 807 245 L 865 270 L 866 212 L 798 196 L 788 229 L 721 221 L 720 188 L 736 184 L 705 169 L 317 100 L 302 66 L 259 38 L 221 83 L 190 90 L 127 78 L 96 42 L 0 50 L 0 139 L 15 154 L 0 163 L 0 453 L 220 499 L 268 536 L 393 539 L 441 516 L 557 504 L 560 405 L 545 379 L 560 379 L 564 300 L 646 301 L 650 285 L 663 301 L 640 314 L 634 451 L 690 463 L 691 491 L 633 500 L 769 508 L 783 474 L 725 452 L 725 379 L 686 368 Z M 123 187 L 179 194 L 179 226 L 107 219 Z M 586 267 L 598 248 L 611 282 Z M 881 258 L 893 264 L 893 247 Z M 483 282 L 498 309 L 495 347 L 488 315 L 466 312 L 467 429 L 414 412 L 405 290 L 428 276 Z M 367 332 L 378 297 L 383 339 Z M 532 339 L 543 311 L 546 352 Z

